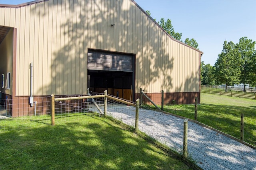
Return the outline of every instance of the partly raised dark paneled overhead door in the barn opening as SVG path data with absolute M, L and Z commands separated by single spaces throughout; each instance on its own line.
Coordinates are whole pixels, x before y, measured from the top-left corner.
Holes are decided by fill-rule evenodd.
M 132 55 L 88 50 L 88 70 L 133 71 Z

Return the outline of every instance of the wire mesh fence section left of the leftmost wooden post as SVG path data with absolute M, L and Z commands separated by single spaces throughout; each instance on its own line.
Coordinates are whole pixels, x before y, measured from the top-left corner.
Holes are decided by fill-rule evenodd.
M 50 125 L 50 102 L 48 100 L 48 97 L 37 97 L 34 106 L 28 104 L 28 98 L 1 100 L 0 132 Z M 18 112 L 19 117 L 12 117 L 13 111 Z

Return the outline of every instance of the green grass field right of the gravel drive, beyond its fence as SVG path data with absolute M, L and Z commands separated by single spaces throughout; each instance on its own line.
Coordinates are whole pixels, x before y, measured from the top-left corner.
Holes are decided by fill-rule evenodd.
M 170 113 L 194 119 L 194 104 L 164 106 Z M 240 139 L 244 113 L 244 141 L 256 146 L 256 100 L 201 93 L 198 121 Z

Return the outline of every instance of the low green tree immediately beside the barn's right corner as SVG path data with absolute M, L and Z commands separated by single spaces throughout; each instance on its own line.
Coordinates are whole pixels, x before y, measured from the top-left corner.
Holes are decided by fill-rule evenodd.
M 211 66 L 210 64 L 204 64 L 204 62 L 201 62 L 201 65 L 202 65 L 201 66 L 201 75 L 203 77 L 201 80 L 201 84 L 214 85 L 215 84 L 214 67 Z

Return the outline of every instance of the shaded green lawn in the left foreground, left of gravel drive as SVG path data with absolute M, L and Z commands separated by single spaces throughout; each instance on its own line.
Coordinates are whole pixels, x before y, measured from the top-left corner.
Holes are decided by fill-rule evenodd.
M 41 123 L 40 127 L 0 132 L 0 169 L 186 170 L 192 167 L 121 123 L 103 117 L 84 117 L 73 123 L 64 123 L 63 117 L 62 123 L 57 119 L 55 126 Z M 9 127 L 16 126 L 12 119 L 0 120 L 0 124 L 6 122 Z

